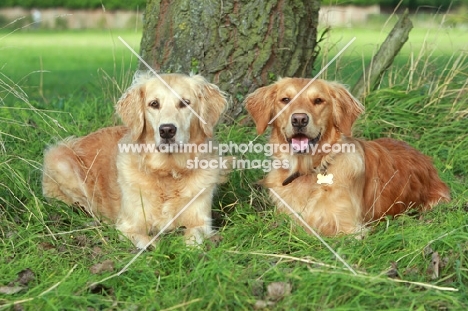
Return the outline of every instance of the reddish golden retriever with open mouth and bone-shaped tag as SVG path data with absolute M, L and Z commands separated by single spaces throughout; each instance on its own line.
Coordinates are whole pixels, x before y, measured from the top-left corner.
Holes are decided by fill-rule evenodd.
M 245 100 L 259 135 L 290 105 L 271 123 L 270 138 L 272 144 L 291 147 L 292 152 L 273 155 L 289 167 L 272 170 L 263 185 L 308 225 L 327 236 L 357 233 L 385 215 L 411 207 L 428 210 L 450 200 L 427 156 L 393 139 L 352 138 L 352 125 L 364 111 L 361 103 L 341 84 L 324 80 L 300 93 L 309 81 L 280 79 Z M 291 214 L 276 195 L 271 198 L 279 212 Z

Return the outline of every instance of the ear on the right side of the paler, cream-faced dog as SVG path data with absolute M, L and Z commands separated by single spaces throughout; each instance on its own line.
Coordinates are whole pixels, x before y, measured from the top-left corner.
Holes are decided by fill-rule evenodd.
M 216 85 L 209 83 L 200 75 L 192 76 L 199 85 L 198 97 L 200 99 L 199 116 L 200 126 L 207 137 L 213 137 L 213 129 L 227 107 L 227 99 Z

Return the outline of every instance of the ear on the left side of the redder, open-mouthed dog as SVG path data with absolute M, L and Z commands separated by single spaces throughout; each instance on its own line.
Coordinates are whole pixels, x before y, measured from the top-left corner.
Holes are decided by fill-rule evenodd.
M 245 99 L 245 108 L 250 113 L 257 126 L 257 134 L 261 135 L 272 119 L 273 105 L 276 95 L 276 85 L 261 87 L 249 94 Z

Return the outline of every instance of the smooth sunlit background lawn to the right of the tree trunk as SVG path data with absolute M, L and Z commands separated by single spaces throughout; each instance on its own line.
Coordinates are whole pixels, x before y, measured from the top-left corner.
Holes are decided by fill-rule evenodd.
M 354 85 L 363 72 L 363 65 L 370 63 L 372 55 L 377 52 L 394 22 L 390 19 L 387 27 L 380 28 L 365 28 L 364 26 L 332 28 L 329 35 L 324 38 L 324 53 L 319 56 L 318 68 L 325 66 L 351 39 L 356 37 L 356 40 L 342 57 L 330 65 L 330 69 L 322 75 L 322 78 L 336 79 Z M 462 53 L 466 54 L 467 42 L 468 34 L 461 28 L 426 29 L 415 26 L 409 34 L 408 42 L 395 58 L 390 72 L 407 70 L 408 65 L 427 60 L 428 70 L 441 73 L 444 65 L 451 58 L 456 58 Z M 400 75 L 394 76 L 394 78 L 397 77 Z M 398 82 L 384 80 L 382 83 L 384 86 L 393 86 Z

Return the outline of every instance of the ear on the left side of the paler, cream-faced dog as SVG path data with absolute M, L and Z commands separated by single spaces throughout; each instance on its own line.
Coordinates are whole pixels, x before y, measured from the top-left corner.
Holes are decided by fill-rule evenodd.
M 137 141 L 145 125 L 145 90 L 141 84 L 131 86 L 120 97 L 115 109 L 123 123 L 130 128 L 132 140 Z

